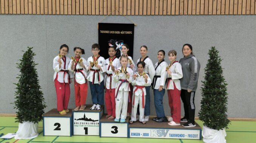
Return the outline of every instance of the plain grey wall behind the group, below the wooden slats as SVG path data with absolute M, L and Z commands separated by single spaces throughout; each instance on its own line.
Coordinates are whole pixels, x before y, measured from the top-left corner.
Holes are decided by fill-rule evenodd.
M 0 15 L 0 113 L 15 113 L 13 109 L 15 85 L 19 74 L 15 63 L 19 62 L 26 47 L 34 47 L 35 62 L 40 85 L 44 93 L 45 111 L 56 108 L 56 92 L 53 82 L 52 60 L 60 45 L 85 48 L 86 59 L 91 56 L 91 45 L 97 43 L 97 23 L 105 16 L 89 15 Z M 140 57 L 139 47 L 147 45 L 148 56 L 157 62 L 160 49 L 176 50 L 182 57 L 182 45 L 190 43 L 201 63 L 199 81 L 203 80 L 208 59 L 208 49 L 215 46 L 224 59 L 224 77 L 228 83 L 228 116 L 256 118 L 255 108 L 255 45 L 256 17 L 254 15 L 217 16 L 128 16 L 135 26 L 134 59 Z M 109 16 L 104 23 L 131 23 L 122 16 Z M 168 58 L 165 58 L 168 60 Z M 196 116 L 200 109 L 200 87 L 196 91 Z M 71 84 L 69 108 L 74 108 L 74 84 Z M 88 87 L 89 88 L 89 87 Z M 155 115 L 153 91 L 151 91 L 151 115 Z M 167 92 L 164 96 L 165 114 L 170 115 Z M 91 104 L 88 90 L 87 104 Z M 182 105 L 183 108 L 183 105 Z M 182 109 L 182 115 L 184 111 Z

